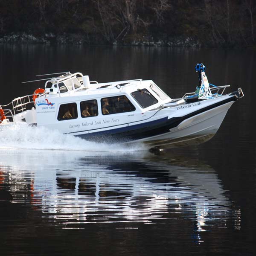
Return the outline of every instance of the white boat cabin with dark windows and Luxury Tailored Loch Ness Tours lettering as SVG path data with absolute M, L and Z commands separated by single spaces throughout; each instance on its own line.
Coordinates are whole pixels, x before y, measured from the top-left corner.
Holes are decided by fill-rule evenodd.
M 35 99 L 36 123 L 76 133 L 137 122 L 147 112 L 170 102 L 152 80 L 98 83 L 81 73 L 65 74 L 45 82 Z

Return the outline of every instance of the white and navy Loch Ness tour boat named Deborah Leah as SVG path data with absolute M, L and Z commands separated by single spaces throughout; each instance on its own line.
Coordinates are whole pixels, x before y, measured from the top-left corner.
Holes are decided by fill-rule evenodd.
M 195 71 L 196 90 L 178 99 L 152 80 L 98 83 L 79 72 L 39 75 L 48 76 L 33 80 L 44 81 L 44 88 L 0 105 L 0 127 L 26 122 L 96 142 L 141 142 L 150 148 L 197 145 L 216 134 L 244 93 L 238 88 L 224 94 L 230 85 L 210 84 L 202 63 Z

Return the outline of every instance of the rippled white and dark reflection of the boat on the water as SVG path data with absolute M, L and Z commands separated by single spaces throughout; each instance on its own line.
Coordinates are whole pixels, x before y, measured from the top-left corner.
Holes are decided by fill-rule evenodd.
M 11 185 L 12 203 L 29 202 L 63 228 L 177 218 L 193 221 L 196 232 L 224 228 L 228 218 L 240 227 L 215 171 L 195 159 L 146 151 L 1 151 L 1 183 Z

